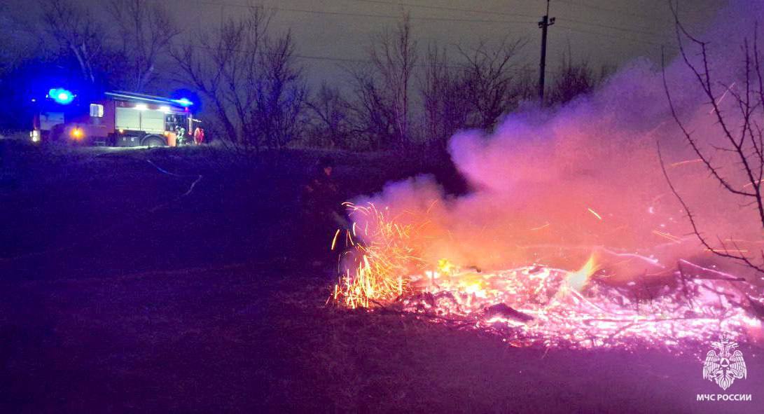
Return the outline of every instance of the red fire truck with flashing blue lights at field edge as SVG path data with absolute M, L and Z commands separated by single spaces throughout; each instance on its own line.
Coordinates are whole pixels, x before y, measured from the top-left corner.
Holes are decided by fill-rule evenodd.
M 199 120 L 189 99 L 103 92 L 90 99 L 53 88 L 38 105 L 31 139 L 115 147 L 192 143 Z

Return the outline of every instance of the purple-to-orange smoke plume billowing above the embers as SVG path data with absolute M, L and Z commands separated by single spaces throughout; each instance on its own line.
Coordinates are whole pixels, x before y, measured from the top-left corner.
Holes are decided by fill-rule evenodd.
M 758 2 L 733 2 L 698 36 L 711 42 L 718 95 L 725 89 L 744 92 L 742 46 L 746 38 L 753 40 L 762 16 Z M 697 49 L 685 47 L 691 63 L 701 64 Z M 747 181 L 739 160 L 714 150 L 724 137 L 698 79 L 676 56 L 678 50 L 665 53 L 673 55 L 665 76 L 678 117 L 730 183 L 742 188 Z M 720 106 L 737 128 L 739 111 L 730 93 Z M 448 196 L 432 177 L 417 176 L 356 202 L 374 202 L 397 222 L 416 225 L 429 263 L 447 258 L 484 269 L 531 263 L 573 269 L 599 251 L 610 255 L 612 273 L 619 277 L 666 272 L 681 258 L 740 273 L 692 234 L 663 176 L 658 144 L 667 173 L 703 234 L 714 244 L 761 247 L 755 207 L 741 205 L 740 197 L 721 188 L 698 162 L 669 111 L 661 68 L 645 60 L 621 68 L 597 92 L 561 108 L 528 105 L 507 115 L 493 132 L 452 137 L 448 150 L 471 187 L 468 195 Z

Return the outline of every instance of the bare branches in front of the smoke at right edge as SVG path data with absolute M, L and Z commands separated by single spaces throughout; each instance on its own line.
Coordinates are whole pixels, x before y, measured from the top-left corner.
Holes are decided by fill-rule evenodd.
M 754 209 L 757 215 L 756 226 L 764 228 L 764 200 L 762 200 L 762 178 L 764 178 L 764 134 L 762 134 L 761 117 L 764 115 L 764 73 L 762 73 L 761 60 L 759 57 L 758 27 L 755 27 L 753 45 L 746 39 L 743 42 L 743 79 L 741 87 L 733 88 L 732 85 L 724 85 L 717 82 L 711 73 L 708 55 L 708 44 L 693 37 L 678 19 L 676 10 L 672 5 L 675 17 L 679 53 L 685 66 L 691 70 L 696 85 L 700 88 L 707 102 L 712 107 L 713 116 L 716 117 L 716 125 L 720 137 L 720 146 L 702 145 L 693 136 L 685 121 L 682 121 L 675 108 L 672 95 L 666 82 L 665 70 L 663 70 L 663 86 L 666 97 L 669 100 L 672 116 L 681 129 L 685 141 L 694 151 L 694 154 L 703 163 L 712 180 L 718 183 L 722 189 L 740 199 L 740 202 Z M 685 41 L 688 40 L 698 51 L 700 62 L 694 61 L 688 54 Z M 730 115 L 723 112 L 720 107 L 720 90 L 729 92 L 734 99 L 733 108 L 736 113 Z M 710 238 L 701 231 L 697 218 L 691 212 L 690 206 L 682 198 L 678 189 L 672 183 L 669 173 L 666 172 L 660 147 L 658 147 L 661 167 L 665 179 L 669 183 L 672 192 L 681 203 L 687 213 L 688 220 L 694 235 L 701 244 L 717 256 L 724 257 L 744 264 L 756 271 L 764 272 L 764 252 L 759 252 L 760 257 L 746 253 L 736 241 L 723 241 L 717 237 L 718 244 L 712 244 Z M 739 166 L 738 170 L 722 170 L 714 161 L 714 155 L 732 157 Z M 743 186 L 733 183 L 733 177 L 743 177 L 746 182 Z M 751 225 L 754 225 L 751 223 Z M 729 239 L 728 239 L 729 240 Z M 756 256 L 759 255 L 756 253 Z

